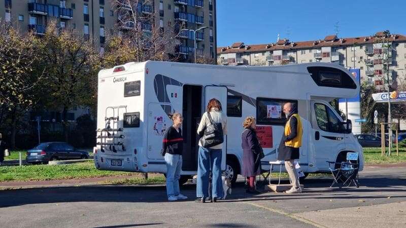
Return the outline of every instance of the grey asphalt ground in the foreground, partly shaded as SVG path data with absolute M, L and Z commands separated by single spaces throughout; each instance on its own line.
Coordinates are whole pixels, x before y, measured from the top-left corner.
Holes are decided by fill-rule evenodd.
M 286 182 L 287 180 L 285 180 Z M 164 185 L 85 185 L 0 191 L 1 227 L 405 227 L 406 167 L 368 167 L 360 187 L 308 179 L 301 194 L 247 195 L 239 182 L 225 201 L 167 202 Z

